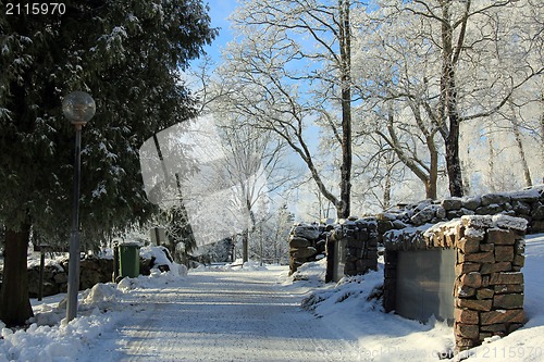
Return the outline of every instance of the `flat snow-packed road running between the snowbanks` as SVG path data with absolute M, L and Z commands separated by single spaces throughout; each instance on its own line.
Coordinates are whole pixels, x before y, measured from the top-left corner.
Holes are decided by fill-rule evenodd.
M 279 270 L 193 272 L 146 288 L 135 313 L 78 361 L 338 361 L 357 359 L 356 337 L 300 310 L 304 289 L 280 287 Z

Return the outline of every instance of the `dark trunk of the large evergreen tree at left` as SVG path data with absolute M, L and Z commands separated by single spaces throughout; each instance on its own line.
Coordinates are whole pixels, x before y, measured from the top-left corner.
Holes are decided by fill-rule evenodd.
M 34 316 L 28 299 L 27 250 L 30 225 L 21 230 L 5 230 L 2 290 L 0 291 L 0 320 L 7 326 L 18 326 Z

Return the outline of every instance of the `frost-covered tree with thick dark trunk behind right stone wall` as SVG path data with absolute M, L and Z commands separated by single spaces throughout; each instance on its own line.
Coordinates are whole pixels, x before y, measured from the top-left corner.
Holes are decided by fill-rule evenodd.
M 462 196 L 463 179 L 470 178 L 461 172 L 461 124 L 497 114 L 520 87 L 542 75 L 542 5 L 529 0 L 383 0 L 374 5 L 359 14 L 362 30 L 355 35 L 362 55 L 354 55 L 354 73 L 361 68 L 363 86 L 370 88 L 361 91 L 370 102 L 403 102 L 412 110 L 411 124 L 420 129 L 403 122 L 394 130 L 435 149 L 423 159 L 434 168 L 426 173 L 434 184 L 432 158 L 441 146 L 434 135 L 442 138 L 450 195 Z M 391 133 L 384 135 L 394 140 Z M 398 155 L 418 174 L 409 159 Z

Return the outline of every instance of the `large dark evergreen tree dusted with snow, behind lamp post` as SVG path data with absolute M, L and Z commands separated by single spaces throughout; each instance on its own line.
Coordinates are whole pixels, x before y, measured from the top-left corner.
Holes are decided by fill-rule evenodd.
M 86 90 L 97 102 L 82 150 L 81 223 L 90 247 L 150 214 L 137 150 L 191 113 L 178 71 L 215 35 L 199 0 L 63 3 L 63 14 L 0 14 L 0 317 L 8 325 L 32 315 L 30 233 L 67 240 L 74 130 L 62 97 Z

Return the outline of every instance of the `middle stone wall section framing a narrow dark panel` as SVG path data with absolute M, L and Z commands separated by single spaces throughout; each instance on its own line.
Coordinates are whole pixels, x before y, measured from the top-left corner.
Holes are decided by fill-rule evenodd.
M 327 280 L 378 270 L 378 222 L 373 217 L 347 220 L 334 225 L 329 235 Z M 333 251 L 334 250 L 334 251 Z M 331 252 L 333 251 L 333 252 Z M 331 275 L 332 272 L 332 275 Z

